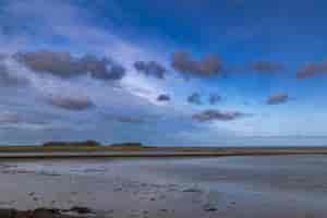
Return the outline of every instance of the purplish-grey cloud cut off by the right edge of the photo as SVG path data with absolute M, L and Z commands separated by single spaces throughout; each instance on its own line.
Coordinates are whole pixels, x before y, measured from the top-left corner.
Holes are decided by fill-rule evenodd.
M 320 62 L 310 62 L 301 66 L 296 73 L 296 78 L 307 78 L 316 74 L 326 74 L 327 73 L 327 60 Z

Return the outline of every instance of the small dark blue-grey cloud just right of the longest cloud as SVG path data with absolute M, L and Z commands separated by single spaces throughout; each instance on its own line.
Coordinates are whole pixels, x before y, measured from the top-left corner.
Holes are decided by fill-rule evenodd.
M 136 61 L 134 63 L 134 68 L 147 76 L 154 76 L 157 78 L 165 78 L 165 74 L 167 72 L 167 69 L 156 61 Z

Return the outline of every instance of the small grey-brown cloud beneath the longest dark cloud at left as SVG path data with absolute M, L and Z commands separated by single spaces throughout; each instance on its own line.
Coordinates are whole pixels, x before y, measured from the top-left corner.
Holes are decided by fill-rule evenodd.
M 51 95 L 47 101 L 52 106 L 76 111 L 86 110 L 95 106 L 86 96 Z

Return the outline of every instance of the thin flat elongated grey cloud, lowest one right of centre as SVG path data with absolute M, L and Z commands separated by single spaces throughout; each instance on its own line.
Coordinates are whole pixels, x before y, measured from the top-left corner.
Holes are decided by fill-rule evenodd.
M 244 113 L 238 111 L 220 111 L 220 110 L 205 110 L 193 114 L 193 119 L 199 122 L 208 121 L 232 121 L 244 117 Z

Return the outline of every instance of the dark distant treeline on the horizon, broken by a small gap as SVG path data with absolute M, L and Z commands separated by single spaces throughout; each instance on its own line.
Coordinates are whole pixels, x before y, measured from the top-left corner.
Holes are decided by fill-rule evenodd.
M 58 147 L 58 146 L 74 146 L 74 147 L 96 147 L 101 146 L 101 143 L 97 141 L 82 141 L 82 142 L 47 142 L 44 143 L 45 147 Z M 142 143 L 121 143 L 111 144 L 114 147 L 142 147 Z

